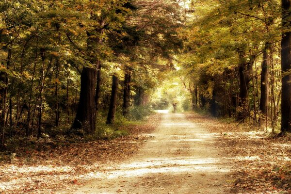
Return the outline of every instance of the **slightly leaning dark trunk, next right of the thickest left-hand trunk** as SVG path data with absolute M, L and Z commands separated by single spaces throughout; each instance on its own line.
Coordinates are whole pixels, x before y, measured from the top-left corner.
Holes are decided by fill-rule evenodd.
M 115 112 L 116 112 L 117 90 L 118 90 L 118 77 L 113 75 L 110 105 L 109 105 L 109 111 L 108 111 L 108 116 L 107 116 L 107 121 L 106 121 L 107 124 L 114 123 Z

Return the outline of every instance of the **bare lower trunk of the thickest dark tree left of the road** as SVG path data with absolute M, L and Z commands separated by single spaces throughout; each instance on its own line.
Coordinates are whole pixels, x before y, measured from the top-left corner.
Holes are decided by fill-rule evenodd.
M 81 92 L 78 110 L 71 129 L 83 128 L 85 132 L 90 134 L 95 132 L 96 80 L 97 69 L 84 66 L 81 73 Z

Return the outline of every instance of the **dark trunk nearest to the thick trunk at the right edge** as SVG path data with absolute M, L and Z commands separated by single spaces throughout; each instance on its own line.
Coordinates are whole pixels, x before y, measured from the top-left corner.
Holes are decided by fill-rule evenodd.
M 266 118 L 268 116 L 268 104 L 269 104 L 269 69 L 271 65 L 271 57 L 270 57 L 270 43 L 265 44 L 265 48 L 263 51 L 263 61 L 262 61 L 262 72 L 261 72 L 261 94 L 260 94 L 260 124 L 265 123 Z

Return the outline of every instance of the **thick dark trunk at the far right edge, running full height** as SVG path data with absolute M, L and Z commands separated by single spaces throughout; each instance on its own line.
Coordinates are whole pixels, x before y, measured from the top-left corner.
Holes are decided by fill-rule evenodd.
M 291 0 L 282 0 L 282 120 L 281 134 L 291 132 Z

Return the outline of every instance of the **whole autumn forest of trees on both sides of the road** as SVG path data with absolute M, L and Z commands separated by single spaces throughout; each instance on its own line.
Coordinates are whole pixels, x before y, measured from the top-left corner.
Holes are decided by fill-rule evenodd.
M 168 70 L 189 99 L 175 84 L 157 96 Z M 1 145 L 52 129 L 95 134 L 153 96 L 154 107 L 177 111 L 183 98 L 283 134 L 290 72 L 291 0 L 0 2 Z

